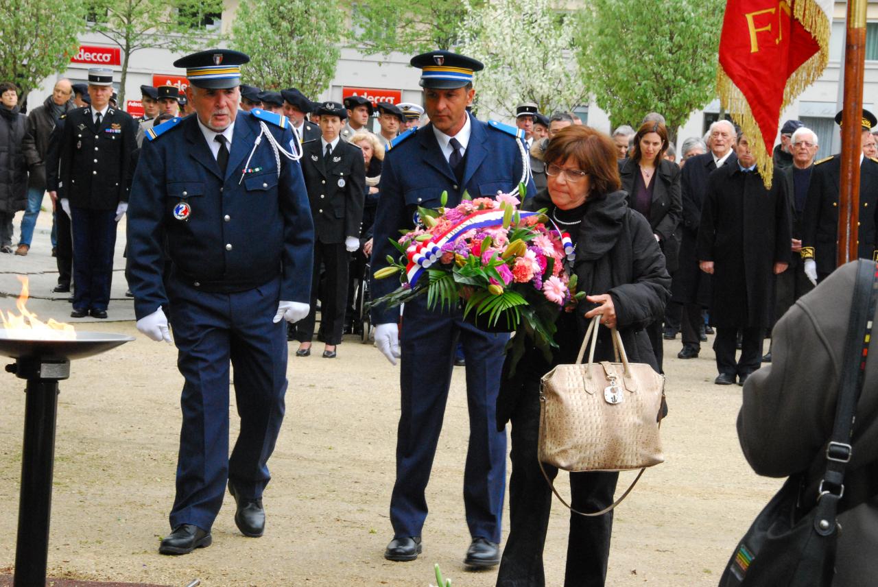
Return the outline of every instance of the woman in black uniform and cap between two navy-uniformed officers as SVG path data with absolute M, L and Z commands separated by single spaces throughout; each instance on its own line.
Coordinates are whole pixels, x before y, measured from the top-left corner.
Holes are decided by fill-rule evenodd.
M 359 147 L 341 140 L 342 120 L 348 114 L 342 104 L 325 102 L 320 115 L 320 140 L 302 146 L 302 174 L 314 219 L 314 266 L 311 311 L 295 325 L 299 340 L 296 356 L 311 354 L 320 268 L 326 268 L 326 290 L 320 292 L 320 330 L 326 347 L 323 356 L 335 357 L 342 342 L 344 308 L 348 297 L 350 254 L 360 247 L 360 223 L 366 193 L 366 169 Z

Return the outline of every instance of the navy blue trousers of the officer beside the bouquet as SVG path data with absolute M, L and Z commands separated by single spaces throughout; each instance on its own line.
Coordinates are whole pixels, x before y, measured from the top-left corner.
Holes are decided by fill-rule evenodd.
M 457 341 L 466 355 L 470 442 L 464 469 L 464 508 L 473 538 L 500 542 L 506 490 L 506 433 L 497 432 L 495 406 L 507 334 L 485 333 L 463 312 L 428 311 L 426 297 L 406 303 L 401 332 L 402 412 L 396 483 L 390 505 L 395 538 L 420 536 L 427 518 L 424 490 L 442 430 Z

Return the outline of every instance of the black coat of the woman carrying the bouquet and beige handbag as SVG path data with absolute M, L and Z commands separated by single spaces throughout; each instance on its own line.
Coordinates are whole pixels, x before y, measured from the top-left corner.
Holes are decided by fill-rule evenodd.
M 671 277 L 649 222 L 631 210 L 625 199 L 623 191 L 589 197 L 586 214 L 579 225 L 573 271 L 579 291 L 588 295 L 608 293 L 613 298 L 617 328 L 630 362 L 648 363 L 658 371 L 644 328 L 664 315 L 665 304 L 671 296 Z M 553 207 L 547 190 L 540 191 L 522 206 L 524 210 Z M 497 398 L 498 430 L 506 426 L 522 391 L 533 389 L 528 383 L 532 383 L 534 377 L 538 379 L 555 365 L 575 362 L 589 323 L 585 314 L 594 307 L 595 304 L 584 302 L 573 315 L 559 315 L 555 335 L 558 348 L 551 362 L 545 361 L 541 351 L 529 348 L 515 376 L 509 377 L 508 364 L 504 365 Z M 601 327 L 599 331 L 594 360 L 615 361 L 608 328 Z

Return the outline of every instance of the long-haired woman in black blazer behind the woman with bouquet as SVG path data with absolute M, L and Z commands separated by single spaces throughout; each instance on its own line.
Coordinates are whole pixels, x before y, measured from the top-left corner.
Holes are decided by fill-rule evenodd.
M 677 225 L 683 213 L 680 196 L 680 168 L 665 160 L 667 129 L 660 122 L 645 122 L 634 135 L 631 156 L 619 160 L 622 189 L 628 192 L 630 208 L 643 214 L 659 241 L 668 273 L 677 269 L 680 237 Z M 662 324 L 657 320 L 647 331 L 652 350 L 662 369 Z

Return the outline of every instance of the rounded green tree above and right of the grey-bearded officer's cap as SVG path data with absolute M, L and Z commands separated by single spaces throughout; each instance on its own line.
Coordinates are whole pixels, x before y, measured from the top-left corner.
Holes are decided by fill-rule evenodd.
M 316 97 L 335 75 L 346 16 L 338 0 L 241 3 L 231 46 L 250 56 L 246 81 Z

